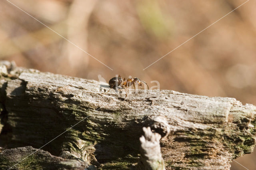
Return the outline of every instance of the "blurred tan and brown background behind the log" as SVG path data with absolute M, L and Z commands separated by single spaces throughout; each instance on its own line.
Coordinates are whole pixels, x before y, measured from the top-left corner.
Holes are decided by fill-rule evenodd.
M 40 71 L 108 81 L 116 74 L 149 86 L 256 105 L 256 2 L 251 0 L 144 71 L 246 0 L 0 1 L 0 59 Z M 256 167 L 256 152 L 238 158 Z M 232 170 L 242 166 L 232 163 Z

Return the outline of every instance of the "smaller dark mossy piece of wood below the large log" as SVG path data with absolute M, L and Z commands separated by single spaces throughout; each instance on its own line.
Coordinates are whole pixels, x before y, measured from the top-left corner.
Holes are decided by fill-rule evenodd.
M 28 155 L 30 155 L 26 158 Z M 17 163 L 17 160 L 25 161 L 17 164 L 14 169 L 72 169 L 72 170 L 84 170 L 89 167 L 87 162 L 76 159 L 64 159 L 58 156 L 52 156 L 49 152 L 44 150 L 37 150 L 31 146 L 6 149 L 0 153 L 1 169 L 8 169 L 12 165 Z M 11 166 L 10 166 L 11 165 Z

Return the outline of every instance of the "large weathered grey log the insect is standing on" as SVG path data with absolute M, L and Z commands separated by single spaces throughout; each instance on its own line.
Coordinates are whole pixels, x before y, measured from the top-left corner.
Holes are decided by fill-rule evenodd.
M 8 62 L 0 63 L 0 72 L 3 149 L 40 148 L 82 119 L 40 152 L 98 169 L 134 168 L 146 158 L 140 158 L 140 137 L 142 128 L 150 127 L 162 136 L 166 169 L 229 169 L 232 159 L 251 153 L 255 145 L 256 107 L 233 98 L 171 90 L 130 90 L 125 97 L 124 89 L 104 93 L 108 84 L 103 82 Z M 14 164 L 2 157 L 0 169 Z

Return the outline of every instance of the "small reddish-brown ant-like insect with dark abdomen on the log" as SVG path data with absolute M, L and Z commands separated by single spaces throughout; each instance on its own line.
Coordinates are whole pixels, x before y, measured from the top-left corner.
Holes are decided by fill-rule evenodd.
M 140 86 L 140 89 L 143 89 L 141 82 L 145 83 L 148 87 L 148 84 L 145 81 L 142 81 L 137 77 L 128 78 L 127 80 L 125 80 L 125 78 L 124 78 L 124 80 L 123 80 L 121 75 L 118 75 L 118 77 L 113 77 L 112 79 L 110 79 L 108 81 L 108 84 L 109 84 L 110 89 L 112 89 L 112 88 L 114 89 L 114 88 L 118 87 L 119 85 L 121 85 L 121 87 L 123 87 L 123 88 L 126 87 L 126 97 L 127 97 L 128 87 L 133 85 L 134 89 L 136 89 L 135 83 L 137 83 Z M 110 89 L 106 93 L 108 93 L 110 91 Z

